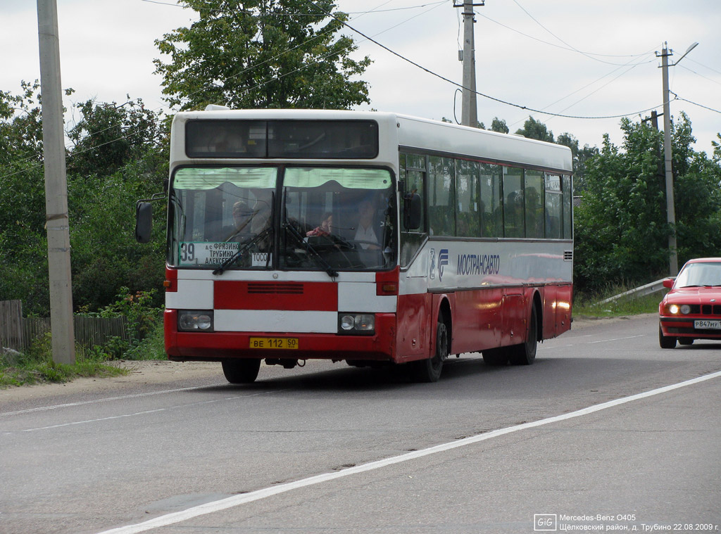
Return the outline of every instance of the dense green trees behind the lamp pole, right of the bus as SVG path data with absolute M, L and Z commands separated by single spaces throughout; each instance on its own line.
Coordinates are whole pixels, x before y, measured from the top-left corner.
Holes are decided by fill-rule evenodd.
M 583 202 L 575 210 L 575 287 L 650 282 L 668 275 L 668 236 L 676 231 L 678 258 L 721 249 L 721 166 L 694 152 L 686 115 L 672 126 L 676 227 L 666 221 L 663 133 L 623 119 L 622 149 L 604 136 L 587 162 Z

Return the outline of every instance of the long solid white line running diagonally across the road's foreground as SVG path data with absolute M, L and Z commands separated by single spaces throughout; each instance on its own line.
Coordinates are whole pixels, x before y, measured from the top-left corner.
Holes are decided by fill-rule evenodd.
M 258 501 L 273 495 L 286 493 L 287 491 L 293 491 L 294 489 L 304 488 L 306 486 L 314 486 L 315 484 L 322 484 L 336 479 L 342 479 L 346 476 L 355 475 L 358 473 L 365 473 L 366 471 L 373 471 L 375 469 L 392 466 L 397 463 L 407 462 L 409 460 L 415 460 L 416 458 L 423 458 L 424 456 L 443 453 L 446 450 L 453 450 L 466 445 L 473 445 L 474 443 L 490 440 L 493 437 L 499 437 L 512 432 L 519 432 L 521 430 L 527 430 L 529 428 L 541 427 L 546 424 L 551 424 L 559 421 L 565 421 L 567 419 L 574 419 L 575 417 L 581 417 L 583 415 L 593 414 L 596 411 L 601 411 L 621 404 L 626 404 L 632 401 L 638 401 L 640 399 L 646 399 L 650 396 L 659 395 L 660 393 L 667 393 L 674 389 L 684 388 L 691 386 L 696 383 L 712 380 L 713 378 L 721 377 L 721 371 L 717 373 L 710 373 L 708 375 L 699 376 L 684 382 L 671 384 L 671 386 L 664 386 L 663 388 L 653 389 L 651 391 L 645 391 L 645 393 L 637 393 L 636 395 L 623 397 L 622 399 L 616 399 L 615 401 L 603 402 L 601 404 L 594 404 L 577 411 L 572 411 L 569 414 L 557 415 L 554 417 L 548 417 L 547 419 L 540 419 L 530 423 L 516 424 L 513 427 L 501 428 L 499 430 L 493 430 L 492 432 L 486 432 L 485 434 L 479 434 L 472 437 L 466 437 L 462 440 L 456 440 L 453 442 L 442 443 L 441 445 L 435 445 L 422 450 L 414 450 L 410 453 L 404 453 L 402 455 L 393 456 L 392 458 L 386 458 L 384 460 L 377 460 L 375 462 L 364 463 L 361 466 L 350 467 L 343 469 L 342 471 L 334 471 L 333 473 L 324 473 L 322 475 L 311 476 L 307 479 L 298 481 L 288 482 L 287 484 L 278 484 L 270 488 L 258 489 L 251 491 L 246 494 L 234 495 L 233 497 L 226 497 L 218 501 L 208 502 L 200 504 L 199 506 L 191 507 L 180 512 L 173 512 L 171 514 L 161 515 L 154 519 L 136 523 L 135 525 L 126 525 L 124 527 L 113 528 L 111 530 L 104 530 L 99 534 L 137 534 L 145 532 L 146 530 L 152 530 L 154 528 L 165 527 L 167 525 L 174 525 L 176 523 L 193 519 L 200 515 L 212 514 L 213 512 L 220 512 L 221 510 L 240 506 L 241 504 L 247 504 L 249 502 Z

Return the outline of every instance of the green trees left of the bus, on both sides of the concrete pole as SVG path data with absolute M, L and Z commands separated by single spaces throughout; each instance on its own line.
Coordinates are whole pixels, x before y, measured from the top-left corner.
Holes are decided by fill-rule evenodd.
M 37 83 L 0 92 L 0 300 L 23 301 L 27 313 L 49 308 L 48 245 L 40 98 Z M 142 103 L 80 104 L 68 132 L 68 216 L 73 298 L 92 311 L 133 291 L 161 285 L 162 215 L 154 243 L 133 239 L 138 198 L 162 190 L 167 143 L 162 120 Z M 139 130 L 139 131 L 136 131 Z M 160 301 L 160 297 L 158 297 Z

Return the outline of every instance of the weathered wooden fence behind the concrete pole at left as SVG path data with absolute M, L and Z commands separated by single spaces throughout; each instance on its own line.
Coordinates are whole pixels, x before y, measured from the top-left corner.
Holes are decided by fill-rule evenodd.
M 74 316 L 75 342 L 86 347 L 103 344 L 111 337 L 128 340 L 125 317 Z M 2 347 L 22 351 L 39 336 L 50 331 L 50 319 L 23 317 L 21 301 L 0 301 L 0 341 Z

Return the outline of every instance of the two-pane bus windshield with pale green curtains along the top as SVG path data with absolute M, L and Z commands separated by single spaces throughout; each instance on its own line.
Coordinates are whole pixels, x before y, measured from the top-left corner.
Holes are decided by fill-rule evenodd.
M 390 268 L 393 195 L 387 169 L 182 167 L 170 191 L 168 263 L 217 274 Z

